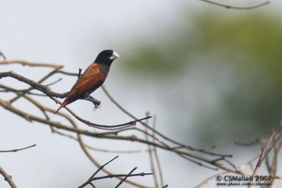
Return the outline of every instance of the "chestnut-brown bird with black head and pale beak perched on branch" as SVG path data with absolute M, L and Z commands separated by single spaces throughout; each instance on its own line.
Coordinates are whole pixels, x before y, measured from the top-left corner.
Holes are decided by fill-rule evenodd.
M 92 63 L 75 82 L 68 96 L 66 96 L 66 99 L 63 101 L 63 104 L 56 110 L 56 113 L 68 104 L 78 99 L 84 99 L 102 86 L 109 73 L 111 63 L 113 63 L 116 58 L 119 58 L 116 51 L 104 50 L 100 52 L 94 63 Z

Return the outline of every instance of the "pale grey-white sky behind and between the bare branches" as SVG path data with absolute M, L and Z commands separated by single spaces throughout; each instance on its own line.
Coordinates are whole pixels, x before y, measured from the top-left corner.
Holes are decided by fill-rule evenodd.
M 233 1 L 234 2 L 234 1 Z M 250 1 L 250 4 L 257 1 Z M 171 117 L 167 110 L 159 105 L 157 92 L 148 80 L 138 80 L 142 88 L 124 82 L 124 75 L 118 70 L 118 63 L 123 61 L 123 54 L 131 48 L 138 39 L 149 38 L 154 41 L 157 33 L 170 32 L 171 25 L 181 27 L 181 12 L 197 12 L 201 8 L 214 8 L 223 13 L 240 14 L 242 12 L 212 7 L 200 1 L 0 1 L 0 51 L 9 59 L 24 59 L 34 62 L 59 63 L 65 65 L 65 70 L 77 71 L 92 63 L 99 51 L 114 49 L 121 56 L 114 62 L 106 80 L 106 87 L 118 101 L 138 117 L 150 111 L 157 115 L 157 125 L 166 134 L 171 129 L 166 126 Z M 280 9 L 279 9 L 280 8 Z M 281 2 L 271 1 L 265 10 L 281 10 Z M 20 65 L 1 66 L 0 70 L 15 70 L 30 79 L 37 80 L 44 73 L 39 68 L 27 68 Z M 46 71 L 46 70 L 44 70 Z M 130 75 L 134 77 L 134 73 Z M 127 76 L 128 76 L 127 75 Z M 58 76 L 61 77 L 61 76 Z M 130 79 L 126 77 L 126 79 Z M 55 80 L 55 78 L 54 78 Z M 52 87 L 56 92 L 66 92 L 72 86 L 75 77 L 64 77 L 62 82 Z M 145 82 L 144 82 L 145 81 Z M 4 83 L 26 86 L 11 79 L 1 80 Z M 175 89 L 175 88 L 173 88 Z M 192 89 L 192 88 L 191 88 Z M 8 96 L 2 94 L 1 96 Z M 91 111 L 92 106 L 85 101 L 73 104 L 72 108 L 83 117 L 90 117 L 95 123 L 123 123 L 130 118 L 123 115 L 101 89 L 92 96 L 102 100 L 102 108 Z M 192 97 L 192 96 L 190 96 Z M 192 99 L 191 99 L 192 100 Z M 49 102 L 49 100 L 46 100 Z M 20 106 L 22 101 L 16 105 Z M 50 104 L 54 108 L 56 104 Z M 26 107 L 32 111 L 33 108 Z M 110 113 L 109 113 L 110 109 Z M 105 114 L 110 114 L 105 115 Z M 65 137 L 51 134 L 49 127 L 38 123 L 28 123 L 16 117 L 3 108 L 0 110 L 0 149 L 14 149 L 30 144 L 35 148 L 17 153 L 1 153 L 0 165 L 11 175 L 18 187 L 78 187 L 87 180 L 96 167 L 82 153 L 78 143 Z M 177 126 L 177 125 L 173 125 Z M 177 137 L 177 135 L 173 135 Z M 193 135 L 189 144 L 192 143 Z M 181 139 L 181 138 L 179 138 Z M 109 141 L 94 140 L 99 148 L 113 144 Z M 97 142 L 97 143 L 96 143 Z M 232 144 L 232 143 L 229 143 Z M 117 142 L 116 148 L 129 148 L 131 143 Z M 248 158 L 243 153 L 242 158 Z M 234 153 L 234 151 L 232 151 Z M 94 156 L 105 163 L 115 154 L 94 153 Z M 139 167 L 137 172 L 149 172 L 147 155 L 131 156 L 120 154 L 118 160 L 109 165 L 116 173 L 129 172 L 133 167 Z M 160 152 L 163 164 L 164 180 L 168 187 L 192 187 L 213 171 L 200 168 L 193 163 L 164 151 Z M 243 161 L 243 159 L 242 159 Z M 152 184 L 151 177 L 135 178 Z M 107 180 L 118 182 L 117 180 Z M 105 182 L 98 183 L 105 184 Z M 108 182 L 106 182 L 107 184 Z M 279 185 L 278 185 L 279 186 Z M 8 187 L 2 179 L 0 187 Z M 123 184 L 121 187 L 130 187 Z M 214 180 L 206 187 L 214 187 Z

